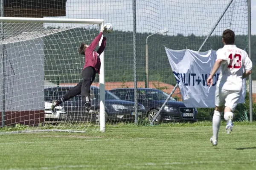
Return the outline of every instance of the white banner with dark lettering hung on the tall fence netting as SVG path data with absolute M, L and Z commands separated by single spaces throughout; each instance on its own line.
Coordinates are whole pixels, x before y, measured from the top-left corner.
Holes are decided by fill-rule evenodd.
M 219 70 L 213 77 L 211 87 L 207 85 L 207 78 L 215 63 L 216 51 L 197 52 L 189 49 L 165 49 L 186 107 L 214 108 Z M 239 103 L 244 103 L 245 94 L 246 82 L 244 79 Z

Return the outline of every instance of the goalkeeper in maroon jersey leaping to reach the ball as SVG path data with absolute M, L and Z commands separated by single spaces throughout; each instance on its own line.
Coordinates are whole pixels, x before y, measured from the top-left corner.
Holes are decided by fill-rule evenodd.
M 69 91 L 67 91 L 64 96 L 59 98 L 58 100 L 52 101 L 52 107 L 51 110 L 53 111 L 56 106 L 59 104 L 67 101 L 68 99 L 73 98 L 74 96 L 77 96 L 81 94 L 83 105 L 85 106 L 87 113 L 97 113 L 98 111 L 94 111 L 91 108 L 90 104 L 90 86 L 92 85 L 96 74 L 99 74 L 101 62 L 100 62 L 100 54 L 105 49 L 106 45 L 106 37 L 103 37 L 102 43 L 97 51 L 95 51 L 95 48 L 97 44 L 99 43 L 99 40 L 101 39 L 103 33 L 106 31 L 106 26 L 102 28 L 99 35 L 93 40 L 93 42 L 90 45 L 86 45 L 84 43 L 81 44 L 79 48 L 79 54 L 84 55 L 85 57 L 85 64 L 84 68 L 82 70 L 82 81 L 79 82 L 75 87 L 71 88 Z

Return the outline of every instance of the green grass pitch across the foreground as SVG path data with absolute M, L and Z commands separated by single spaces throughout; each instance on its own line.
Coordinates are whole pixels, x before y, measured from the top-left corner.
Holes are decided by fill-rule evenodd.
M 19 133 L 0 136 L 0 170 L 255 170 L 256 122 L 108 125 L 105 133 Z

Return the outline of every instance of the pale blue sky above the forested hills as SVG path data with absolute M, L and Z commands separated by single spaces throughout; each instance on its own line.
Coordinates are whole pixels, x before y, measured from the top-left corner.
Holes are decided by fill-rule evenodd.
M 232 0 L 136 0 L 137 32 L 208 35 Z M 247 34 L 247 0 L 233 0 L 213 31 L 226 28 Z M 104 19 L 114 29 L 133 30 L 132 0 L 67 0 L 66 17 Z M 252 34 L 256 34 L 256 0 L 251 0 Z

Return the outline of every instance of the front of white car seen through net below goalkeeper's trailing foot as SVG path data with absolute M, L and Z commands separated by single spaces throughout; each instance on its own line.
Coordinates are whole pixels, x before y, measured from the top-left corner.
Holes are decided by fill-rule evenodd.
M 44 102 L 44 118 L 45 119 L 58 119 L 58 118 L 66 118 L 67 113 L 65 112 L 64 108 L 61 106 L 56 106 L 55 107 L 55 114 L 52 113 L 51 111 L 51 106 L 52 103 L 50 102 Z

